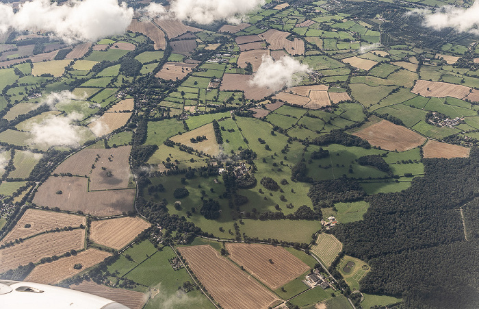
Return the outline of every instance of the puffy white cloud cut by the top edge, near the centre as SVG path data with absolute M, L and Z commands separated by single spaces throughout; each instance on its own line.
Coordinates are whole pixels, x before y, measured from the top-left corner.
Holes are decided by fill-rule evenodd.
M 157 3 L 150 3 L 146 7 L 146 14 L 203 25 L 214 21 L 241 23 L 245 14 L 257 10 L 264 3 L 265 0 L 172 0 L 168 10 Z

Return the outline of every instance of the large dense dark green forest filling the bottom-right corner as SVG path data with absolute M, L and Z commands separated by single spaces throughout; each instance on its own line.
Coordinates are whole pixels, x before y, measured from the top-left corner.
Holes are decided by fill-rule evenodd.
M 423 163 L 410 188 L 367 197 L 364 219 L 333 233 L 346 254 L 371 265 L 361 291 L 402 295 L 405 308 L 478 308 L 479 150 Z

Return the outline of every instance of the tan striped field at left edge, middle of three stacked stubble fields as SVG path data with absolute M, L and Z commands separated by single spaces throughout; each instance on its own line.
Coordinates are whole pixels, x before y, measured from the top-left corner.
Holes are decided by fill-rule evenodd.
M 41 258 L 60 256 L 71 249 L 81 250 L 84 245 L 85 230 L 82 229 L 41 234 L 0 249 L 0 273 L 29 262 L 40 262 Z

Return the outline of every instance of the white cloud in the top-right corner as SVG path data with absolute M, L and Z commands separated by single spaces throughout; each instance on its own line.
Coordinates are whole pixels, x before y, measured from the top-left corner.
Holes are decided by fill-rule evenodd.
M 452 27 L 458 32 L 473 32 L 479 34 L 479 1 L 474 2 L 470 8 L 455 8 L 445 5 L 439 12 L 429 14 L 424 11 L 415 11 L 424 16 L 424 25 L 437 30 Z

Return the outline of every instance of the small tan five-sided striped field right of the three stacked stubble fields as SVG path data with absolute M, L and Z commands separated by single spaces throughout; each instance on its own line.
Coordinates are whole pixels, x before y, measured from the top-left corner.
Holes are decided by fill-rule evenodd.
M 119 250 L 150 226 L 140 217 L 92 221 L 90 238 L 95 243 Z

